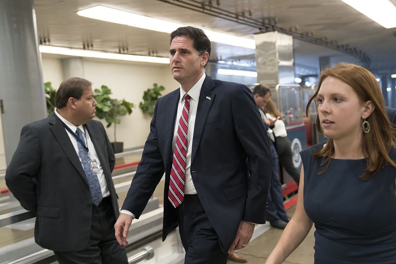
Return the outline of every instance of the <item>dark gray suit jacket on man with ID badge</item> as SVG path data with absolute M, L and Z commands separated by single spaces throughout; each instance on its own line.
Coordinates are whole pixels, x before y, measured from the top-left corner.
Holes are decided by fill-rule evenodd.
M 114 152 L 103 125 L 86 124 L 119 214 L 111 171 Z M 36 213 L 35 240 L 54 251 L 80 251 L 89 242 L 92 201 L 87 179 L 73 144 L 54 113 L 22 128 L 21 139 L 7 167 L 6 184 L 21 205 Z

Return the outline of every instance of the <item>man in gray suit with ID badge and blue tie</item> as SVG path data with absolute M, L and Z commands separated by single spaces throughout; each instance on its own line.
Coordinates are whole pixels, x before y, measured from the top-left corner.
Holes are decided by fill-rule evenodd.
M 22 128 L 6 184 L 36 213 L 35 240 L 53 250 L 59 263 L 127 263 L 114 237 L 115 157 L 103 125 L 92 120 L 97 105 L 92 83 L 67 79 L 55 101 L 48 118 Z

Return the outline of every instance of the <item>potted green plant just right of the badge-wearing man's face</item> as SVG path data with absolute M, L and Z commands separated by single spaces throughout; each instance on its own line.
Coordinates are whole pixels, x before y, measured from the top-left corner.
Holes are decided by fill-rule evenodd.
M 119 100 L 111 98 L 111 90 L 102 85 L 100 89 L 95 89 L 95 100 L 98 102 L 96 106 L 96 116 L 107 122 L 107 127 L 114 124 L 114 142 L 111 143 L 115 153 L 124 151 L 124 143 L 117 142 L 117 124 L 121 123 L 119 116 L 130 115 L 132 113 L 133 103 L 125 99 Z

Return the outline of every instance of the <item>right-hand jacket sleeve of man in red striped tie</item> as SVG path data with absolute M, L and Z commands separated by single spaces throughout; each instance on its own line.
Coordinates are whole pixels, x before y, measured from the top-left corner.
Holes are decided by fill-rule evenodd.
M 270 142 L 251 91 L 243 86 L 233 95 L 235 131 L 247 155 L 249 180 L 243 220 L 265 223 L 272 175 Z

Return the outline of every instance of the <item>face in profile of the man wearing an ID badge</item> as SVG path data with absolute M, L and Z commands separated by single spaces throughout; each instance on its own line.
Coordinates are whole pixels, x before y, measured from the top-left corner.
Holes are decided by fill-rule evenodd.
M 84 89 L 84 93 L 79 100 L 75 101 L 75 118 L 80 120 L 81 124 L 91 121 L 95 117 L 95 106 L 98 103 L 94 99 L 94 92 L 92 87 Z

